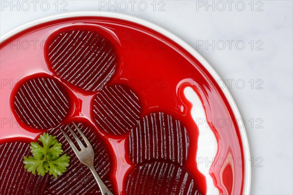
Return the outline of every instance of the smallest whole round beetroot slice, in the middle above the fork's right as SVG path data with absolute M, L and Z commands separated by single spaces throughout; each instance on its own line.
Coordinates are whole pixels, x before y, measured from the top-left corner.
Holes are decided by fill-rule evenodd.
M 93 102 L 93 116 L 106 133 L 122 135 L 137 123 L 141 106 L 136 94 L 126 86 L 105 87 Z

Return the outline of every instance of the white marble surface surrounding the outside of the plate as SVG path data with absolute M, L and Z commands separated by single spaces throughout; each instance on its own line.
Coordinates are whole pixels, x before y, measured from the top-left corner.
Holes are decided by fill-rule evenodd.
M 188 42 L 209 61 L 227 85 L 234 79 L 230 80 L 230 92 L 246 121 L 254 162 L 251 194 L 293 194 L 291 0 L 253 1 L 253 7 L 250 0 L 209 1 L 210 5 L 214 3 L 214 10 L 206 1 L 153 3 L 151 0 L 145 1 L 145 11 L 144 3 L 139 1 L 123 1 L 127 8 L 120 1 L 116 2 L 117 6 L 111 1 L 112 7 L 108 1 L 23 2 L 1 0 L 0 35 L 25 22 L 56 13 L 117 9 L 117 12 L 160 25 Z M 240 11 L 243 4 L 245 8 Z M 225 9 L 221 11 L 223 5 Z M 61 11 L 64 6 L 67 11 Z M 163 10 L 158 11 L 161 6 Z M 211 43 L 207 48 L 206 41 Z M 240 50 L 243 42 L 245 47 Z

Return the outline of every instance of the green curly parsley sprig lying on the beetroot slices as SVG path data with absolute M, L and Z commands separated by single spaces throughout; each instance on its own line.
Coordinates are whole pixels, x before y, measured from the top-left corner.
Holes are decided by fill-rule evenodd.
M 57 141 L 56 136 L 43 133 L 38 140 L 42 142 L 42 146 L 38 142 L 30 143 L 33 156 L 23 157 L 24 169 L 33 175 L 37 172 L 41 176 L 49 172 L 49 175 L 57 178 L 69 166 L 70 156 L 62 155 L 62 144 Z

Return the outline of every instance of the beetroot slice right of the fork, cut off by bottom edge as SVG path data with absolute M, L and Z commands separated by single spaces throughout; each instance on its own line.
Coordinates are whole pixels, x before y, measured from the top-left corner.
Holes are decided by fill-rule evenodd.
M 127 177 L 126 195 L 201 195 L 195 180 L 171 162 L 136 165 Z

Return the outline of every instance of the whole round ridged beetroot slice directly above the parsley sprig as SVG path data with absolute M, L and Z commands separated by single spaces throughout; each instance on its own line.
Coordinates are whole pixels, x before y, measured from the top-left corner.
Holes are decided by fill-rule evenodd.
M 68 94 L 53 78 L 29 79 L 14 97 L 14 110 L 21 122 L 37 129 L 57 126 L 67 116 L 69 107 Z

